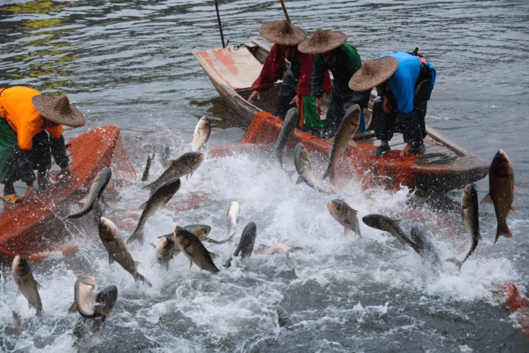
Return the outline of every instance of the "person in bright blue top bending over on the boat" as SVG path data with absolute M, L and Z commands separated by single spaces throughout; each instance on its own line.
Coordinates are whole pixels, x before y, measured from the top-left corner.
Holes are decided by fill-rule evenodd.
M 373 105 L 375 137 L 381 143 L 372 155 L 381 156 L 390 150 L 388 141 L 394 132 L 402 132 L 407 143 L 404 156 L 424 152 L 424 116 L 435 81 L 435 69 L 417 51 L 394 52 L 376 60 L 366 60 L 349 81 L 351 89 L 377 87 L 381 95 Z

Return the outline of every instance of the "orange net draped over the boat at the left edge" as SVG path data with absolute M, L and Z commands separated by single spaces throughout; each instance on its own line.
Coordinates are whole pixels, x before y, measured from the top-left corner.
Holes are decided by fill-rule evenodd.
M 57 216 L 66 198 L 78 188 L 87 188 L 104 167 L 112 168 L 113 180 L 134 179 L 135 170 L 120 138 L 120 129 L 107 125 L 73 138 L 67 144 L 74 178 L 54 183 L 28 203 L 4 207 L 0 214 L 0 263 L 11 264 L 15 255 L 41 260 L 53 251 L 75 250 L 65 245 L 69 231 Z

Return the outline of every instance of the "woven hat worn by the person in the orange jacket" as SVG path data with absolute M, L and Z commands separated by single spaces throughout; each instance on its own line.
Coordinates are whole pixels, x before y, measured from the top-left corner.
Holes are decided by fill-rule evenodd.
M 85 124 L 83 113 L 71 105 L 65 95 L 50 97 L 39 94 L 31 98 L 31 103 L 40 115 L 58 124 L 72 126 L 73 128 L 78 128 Z

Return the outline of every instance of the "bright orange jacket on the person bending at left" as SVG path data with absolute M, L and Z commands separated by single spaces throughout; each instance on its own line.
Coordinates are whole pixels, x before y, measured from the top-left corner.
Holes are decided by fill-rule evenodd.
M 1 89 L 1 88 L 0 88 Z M 14 86 L 4 89 L 0 95 L 0 117 L 17 133 L 20 149 L 31 150 L 33 138 L 44 130 L 42 115 L 33 107 L 31 97 L 40 94 L 38 90 L 29 87 Z M 62 134 L 62 126 L 45 128 L 54 138 Z

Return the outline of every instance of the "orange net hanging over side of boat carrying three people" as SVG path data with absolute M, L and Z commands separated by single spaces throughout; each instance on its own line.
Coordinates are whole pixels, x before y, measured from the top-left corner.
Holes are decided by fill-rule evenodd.
M 241 143 L 273 144 L 281 130 L 283 120 L 268 112 L 258 112 Z M 332 144 L 325 139 L 303 132 L 294 131 L 293 138 L 287 143 L 287 148 L 294 149 L 298 142 L 303 143 L 311 158 L 329 158 Z M 370 142 L 370 141 L 366 141 Z M 382 186 L 386 189 L 398 190 L 401 185 L 414 187 L 416 185 L 414 157 L 402 157 L 401 151 L 390 150 L 384 157 L 371 156 L 376 149 L 372 143 L 357 142 L 357 147 L 346 149 L 346 158 L 342 158 L 336 165 L 337 179 L 356 178 L 362 182 L 364 188 Z

